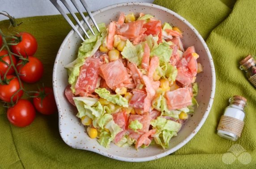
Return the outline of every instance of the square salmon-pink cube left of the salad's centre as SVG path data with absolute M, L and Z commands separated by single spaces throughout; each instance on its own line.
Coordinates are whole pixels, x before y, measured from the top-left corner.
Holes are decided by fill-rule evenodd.
M 112 90 L 115 89 L 116 85 L 129 78 L 126 68 L 120 59 L 101 65 L 100 70 L 107 86 Z

